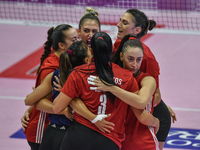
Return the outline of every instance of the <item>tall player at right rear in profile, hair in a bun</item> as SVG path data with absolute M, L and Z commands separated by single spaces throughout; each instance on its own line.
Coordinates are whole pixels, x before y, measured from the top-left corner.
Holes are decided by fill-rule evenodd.
M 120 22 L 117 24 L 118 34 L 117 40 L 114 44 L 113 58 L 112 61 L 115 63 L 119 63 L 119 60 L 116 60 L 119 53 L 115 53 L 118 47 L 120 47 L 121 39 L 127 34 L 133 34 L 136 39 L 140 39 L 148 30 L 152 30 L 156 26 L 156 22 L 154 20 L 148 20 L 147 16 L 137 10 L 137 9 L 129 9 L 127 10 L 122 17 L 120 18 Z M 171 127 L 171 118 L 172 115 L 173 121 L 176 120 L 176 115 L 172 109 L 172 112 L 169 113 L 168 106 L 161 100 L 161 94 L 159 90 L 159 74 L 160 69 L 158 62 L 155 59 L 155 56 L 151 52 L 148 46 L 142 43 L 144 49 L 144 56 L 141 64 L 141 71 L 144 73 L 149 73 L 153 76 L 157 82 L 157 95 L 155 97 L 155 103 L 157 106 L 154 108 L 153 115 L 160 120 L 160 129 L 157 133 L 157 138 L 160 143 L 161 149 L 164 147 L 165 140 L 167 138 L 168 132 Z M 116 55 L 116 56 L 115 56 Z

